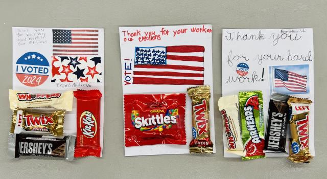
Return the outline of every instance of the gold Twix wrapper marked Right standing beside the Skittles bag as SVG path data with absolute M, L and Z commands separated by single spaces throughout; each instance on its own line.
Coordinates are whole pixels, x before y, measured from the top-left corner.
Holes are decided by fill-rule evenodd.
M 213 153 L 210 140 L 209 99 L 210 86 L 188 88 L 192 99 L 192 141 L 190 153 Z

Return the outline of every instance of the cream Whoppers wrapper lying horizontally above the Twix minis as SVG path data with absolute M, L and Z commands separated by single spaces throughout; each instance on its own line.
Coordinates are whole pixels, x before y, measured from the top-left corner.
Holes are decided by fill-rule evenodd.
M 54 107 L 71 111 L 73 108 L 73 91 L 53 94 L 29 94 L 9 89 L 10 108 Z

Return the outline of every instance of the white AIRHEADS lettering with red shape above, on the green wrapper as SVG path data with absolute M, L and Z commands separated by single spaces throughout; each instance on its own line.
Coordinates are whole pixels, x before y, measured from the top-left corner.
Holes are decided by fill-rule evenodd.
M 251 105 L 253 103 L 254 103 L 254 105 Z M 261 138 L 258 133 L 258 128 L 256 128 L 254 114 L 253 114 L 253 109 L 258 110 L 259 107 L 258 107 L 258 105 L 255 105 L 255 104 L 259 104 L 257 95 L 250 97 L 246 101 L 245 106 L 244 106 L 244 116 L 245 116 L 245 120 L 246 120 L 246 128 L 250 133 L 252 143 L 260 143 Z

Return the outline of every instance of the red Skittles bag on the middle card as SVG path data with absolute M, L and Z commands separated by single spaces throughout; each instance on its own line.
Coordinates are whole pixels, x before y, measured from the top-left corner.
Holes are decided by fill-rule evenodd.
M 185 94 L 124 95 L 125 146 L 186 144 Z

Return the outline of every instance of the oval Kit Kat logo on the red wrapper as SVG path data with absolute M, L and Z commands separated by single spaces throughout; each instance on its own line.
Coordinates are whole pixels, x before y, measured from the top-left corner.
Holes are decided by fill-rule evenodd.
M 90 111 L 86 110 L 81 114 L 80 127 L 85 137 L 95 137 L 97 133 L 97 120 Z

